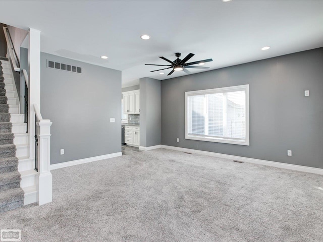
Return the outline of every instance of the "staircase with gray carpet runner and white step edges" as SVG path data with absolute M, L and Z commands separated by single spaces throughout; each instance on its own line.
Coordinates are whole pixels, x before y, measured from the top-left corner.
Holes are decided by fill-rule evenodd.
M 0 212 L 36 202 L 34 161 L 10 63 L 0 58 Z

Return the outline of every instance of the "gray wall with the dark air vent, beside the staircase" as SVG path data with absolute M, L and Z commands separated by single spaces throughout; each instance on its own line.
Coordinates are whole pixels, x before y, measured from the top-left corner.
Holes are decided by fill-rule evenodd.
M 47 68 L 46 59 L 82 74 Z M 40 91 L 41 114 L 52 122 L 51 164 L 121 152 L 121 71 L 42 52 Z

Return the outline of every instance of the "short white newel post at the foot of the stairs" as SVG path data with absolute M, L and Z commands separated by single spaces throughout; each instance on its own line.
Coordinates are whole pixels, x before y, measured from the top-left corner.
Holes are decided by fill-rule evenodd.
M 38 205 L 50 203 L 52 201 L 52 177 L 49 169 L 50 165 L 50 126 L 49 119 L 41 119 L 37 126 L 39 127 L 38 134 L 38 149 L 39 149 L 39 170 L 38 170 Z

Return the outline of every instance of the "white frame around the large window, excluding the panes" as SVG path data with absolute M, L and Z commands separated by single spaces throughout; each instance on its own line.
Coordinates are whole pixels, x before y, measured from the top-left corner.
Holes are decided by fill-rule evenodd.
M 188 118 L 187 118 L 188 117 L 188 110 L 187 110 L 188 96 L 205 95 L 205 94 L 212 94 L 212 93 L 223 93 L 223 92 L 234 92 L 234 91 L 242 91 L 242 90 L 245 90 L 245 92 L 246 92 L 246 103 L 245 103 L 245 105 L 246 105 L 245 106 L 246 136 L 245 136 L 244 141 L 237 140 L 237 139 L 227 139 L 227 138 L 219 138 L 219 137 L 210 137 L 210 136 L 205 136 L 205 135 L 200 136 L 200 135 L 189 135 L 188 134 Z M 240 86 L 221 87 L 221 88 L 213 88 L 213 89 L 185 92 L 185 139 L 249 146 L 250 145 L 250 141 L 249 141 L 249 84 L 240 85 Z

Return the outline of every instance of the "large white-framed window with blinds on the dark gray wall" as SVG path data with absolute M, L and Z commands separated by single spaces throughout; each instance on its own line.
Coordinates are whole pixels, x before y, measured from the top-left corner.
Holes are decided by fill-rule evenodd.
M 185 92 L 185 139 L 249 145 L 249 85 Z

